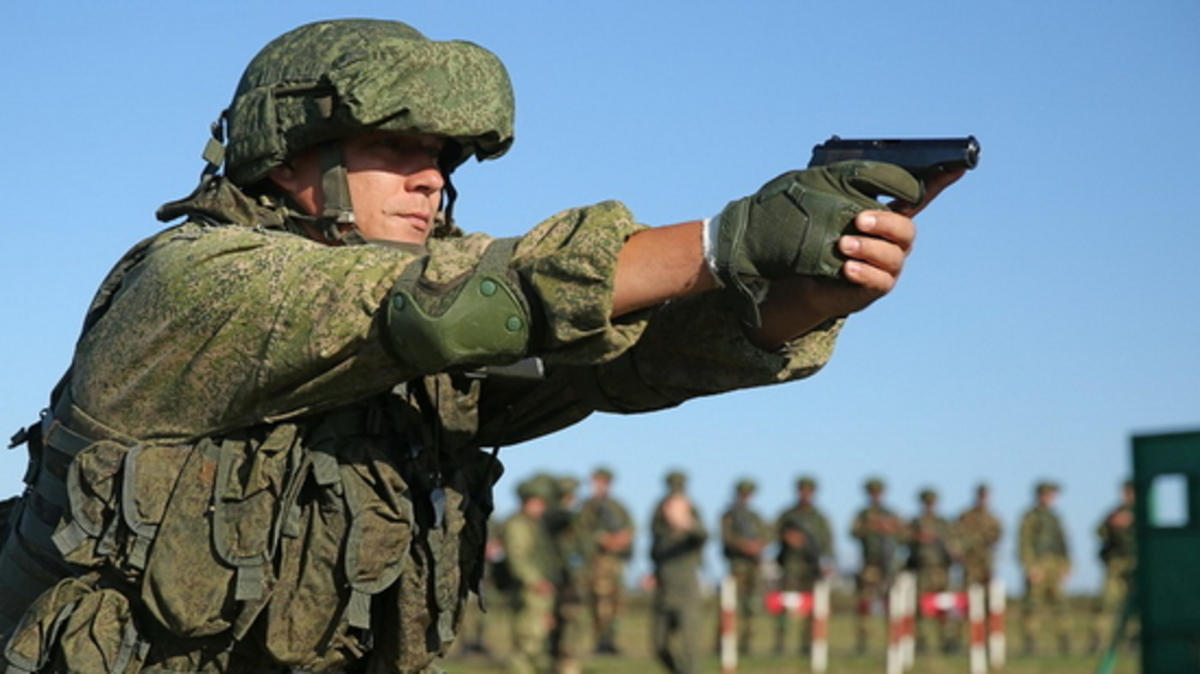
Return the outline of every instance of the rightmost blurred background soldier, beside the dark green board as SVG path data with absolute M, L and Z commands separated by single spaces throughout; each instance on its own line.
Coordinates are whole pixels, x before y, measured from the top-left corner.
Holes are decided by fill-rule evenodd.
M 1133 482 L 1127 480 L 1121 485 L 1121 503 L 1096 529 L 1096 535 L 1100 538 L 1100 561 L 1104 562 L 1104 588 L 1096 598 L 1092 652 L 1099 651 L 1104 638 L 1111 633 L 1114 621 L 1126 602 L 1133 582 L 1133 571 L 1138 561 L 1133 506 Z

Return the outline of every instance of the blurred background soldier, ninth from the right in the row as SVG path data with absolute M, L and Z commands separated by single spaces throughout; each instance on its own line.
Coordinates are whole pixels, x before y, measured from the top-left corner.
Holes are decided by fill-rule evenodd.
M 634 553 L 634 520 L 610 493 L 612 471 L 592 474 L 592 497 L 580 508 L 580 531 L 588 543 L 588 603 L 596 652 L 616 655 L 617 618 L 625 590 L 625 562 Z

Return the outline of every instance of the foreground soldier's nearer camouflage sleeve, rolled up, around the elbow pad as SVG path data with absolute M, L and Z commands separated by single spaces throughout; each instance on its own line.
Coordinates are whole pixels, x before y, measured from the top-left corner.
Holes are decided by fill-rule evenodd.
M 535 320 L 532 354 L 590 365 L 637 341 L 644 313 L 608 315 L 617 254 L 638 229 L 605 203 L 521 237 L 509 265 Z M 382 333 L 397 281 L 420 263 L 420 283 L 451 285 L 492 241 L 330 247 L 248 227 L 169 229 L 80 339 L 72 395 L 126 434 L 187 439 L 386 391 L 420 374 Z

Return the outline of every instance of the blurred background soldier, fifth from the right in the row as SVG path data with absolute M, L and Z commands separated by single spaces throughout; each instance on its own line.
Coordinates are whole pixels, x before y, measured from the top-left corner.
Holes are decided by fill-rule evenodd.
M 850 530 L 862 548 L 863 567 L 858 572 L 857 650 L 866 652 L 871 613 L 876 600 L 883 600 L 895 572 L 896 549 L 904 536 L 904 523 L 883 505 L 883 481 L 872 477 L 864 485 L 866 507 L 854 517 Z

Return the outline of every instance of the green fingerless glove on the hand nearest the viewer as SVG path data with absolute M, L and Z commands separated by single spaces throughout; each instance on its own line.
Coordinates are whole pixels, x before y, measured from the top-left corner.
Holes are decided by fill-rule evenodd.
M 922 186 L 908 171 L 880 162 L 838 162 L 788 171 L 758 192 L 731 201 L 716 217 L 713 267 L 744 300 L 743 320 L 760 325 L 755 279 L 822 276 L 841 278 L 838 239 L 854 216 L 886 209 L 876 197 L 913 203 Z

